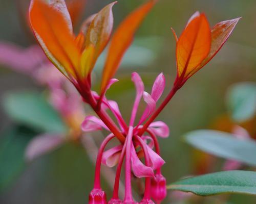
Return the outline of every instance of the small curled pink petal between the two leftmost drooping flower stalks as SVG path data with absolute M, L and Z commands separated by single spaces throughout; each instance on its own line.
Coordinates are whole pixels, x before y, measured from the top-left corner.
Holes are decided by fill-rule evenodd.
M 118 145 L 109 150 L 104 151 L 102 155 L 102 161 L 101 161 L 102 164 L 108 167 L 115 166 L 119 161 L 122 148 L 123 148 L 123 145 Z

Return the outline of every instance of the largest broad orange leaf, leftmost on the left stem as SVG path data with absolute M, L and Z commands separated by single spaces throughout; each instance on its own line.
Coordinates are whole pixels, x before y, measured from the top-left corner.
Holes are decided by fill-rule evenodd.
M 72 24 L 62 0 L 49 4 L 40 0 L 31 2 L 29 18 L 35 36 L 48 58 L 70 78 L 76 78 L 80 53 L 72 33 Z

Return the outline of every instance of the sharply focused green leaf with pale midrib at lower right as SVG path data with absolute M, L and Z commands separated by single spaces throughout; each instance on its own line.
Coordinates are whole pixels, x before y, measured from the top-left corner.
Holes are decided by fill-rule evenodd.
M 209 196 L 220 193 L 245 193 L 256 195 L 256 172 L 222 171 L 189 177 L 167 186 L 170 190 L 192 192 Z

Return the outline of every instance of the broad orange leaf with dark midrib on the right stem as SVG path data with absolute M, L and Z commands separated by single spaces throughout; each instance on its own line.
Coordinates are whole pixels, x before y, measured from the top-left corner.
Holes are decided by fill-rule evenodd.
M 204 14 L 195 13 L 181 34 L 176 47 L 178 77 L 186 78 L 208 56 L 210 27 Z

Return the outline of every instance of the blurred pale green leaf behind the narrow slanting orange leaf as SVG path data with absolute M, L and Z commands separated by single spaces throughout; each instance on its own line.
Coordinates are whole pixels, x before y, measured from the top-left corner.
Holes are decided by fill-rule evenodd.
M 158 37 L 145 37 L 138 38 L 134 41 L 133 45 L 125 53 L 120 68 L 122 67 L 147 67 L 152 64 L 159 53 L 163 41 Z M 108 49 L 105 49 L 108 50 Z M 102 69 L 106 58 L 106 51 L 100 55 L 95 69 Z

